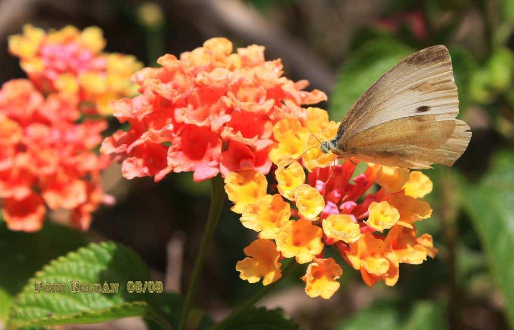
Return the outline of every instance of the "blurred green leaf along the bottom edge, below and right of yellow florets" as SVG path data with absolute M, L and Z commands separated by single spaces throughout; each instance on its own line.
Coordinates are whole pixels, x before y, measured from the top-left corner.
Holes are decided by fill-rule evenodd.
M 382 301 L 355 314 L 334 330 L 443 330 L 444 304 L 434 301 L 418 301 L 411 308 L 394 302 Z

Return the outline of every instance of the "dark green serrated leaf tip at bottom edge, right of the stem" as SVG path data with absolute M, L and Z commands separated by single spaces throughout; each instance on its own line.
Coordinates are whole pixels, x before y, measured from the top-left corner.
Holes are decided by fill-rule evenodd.
M 251 308 L 228 323 L 225 330 L 299 330 L 295 322 L 284 316 L 280 309 L 266 309 L 264 307 Z

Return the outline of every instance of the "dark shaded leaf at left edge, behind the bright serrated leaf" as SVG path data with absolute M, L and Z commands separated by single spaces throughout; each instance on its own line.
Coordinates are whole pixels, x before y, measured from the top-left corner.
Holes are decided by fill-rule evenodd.
M 82 232 L 48 221 L 31 233 L 9 230 L 0 222 L 0 318 L 6 320 L 11 300 L 36 270 L 86 244 Z

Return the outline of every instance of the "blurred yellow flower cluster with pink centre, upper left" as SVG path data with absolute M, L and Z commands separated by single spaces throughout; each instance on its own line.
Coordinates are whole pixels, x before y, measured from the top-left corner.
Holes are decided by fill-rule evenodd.
M 83 112 L 111 115 L 112 100 L 136 94 L 130 77 L 142 65 L 132 55 L 102 52 L 105 44 L 97 27 L 45 32 L 28 24 L 9 37 L 9 51 L 41 91 L 77 94 Z

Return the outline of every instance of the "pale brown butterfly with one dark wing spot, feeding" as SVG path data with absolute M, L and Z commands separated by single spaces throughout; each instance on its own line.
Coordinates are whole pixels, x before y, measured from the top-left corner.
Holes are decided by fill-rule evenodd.
M 455 117 L 457 86 L 443 45 L 422 49 L 387 71 L 348 110 L 323 153 L 405 168 L 453 165 L 471 131 Z

